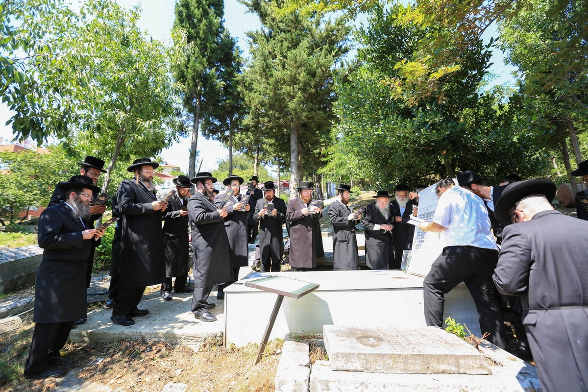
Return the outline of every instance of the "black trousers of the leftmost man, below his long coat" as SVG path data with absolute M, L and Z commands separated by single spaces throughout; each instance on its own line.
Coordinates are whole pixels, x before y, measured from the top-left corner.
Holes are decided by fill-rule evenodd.
M 50 358 L 61 357 L 59 351 L 65 346 L 72 326 L 74 321 L 35 324 L 31 352 L 25 362 L 25 374 L 39 374 L 51 366 Z

